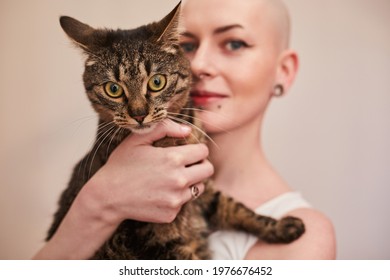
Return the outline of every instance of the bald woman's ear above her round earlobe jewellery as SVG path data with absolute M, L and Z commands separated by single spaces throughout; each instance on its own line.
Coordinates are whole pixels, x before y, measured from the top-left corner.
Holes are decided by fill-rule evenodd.
M 285 92 L 292 86 L 299 68 L 298 54 L 291 49 L 283 51 L 279 58 L 276 83 L 283 85 Z

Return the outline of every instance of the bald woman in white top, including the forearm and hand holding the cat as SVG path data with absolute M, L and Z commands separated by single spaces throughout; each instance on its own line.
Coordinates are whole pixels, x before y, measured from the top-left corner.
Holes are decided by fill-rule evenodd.
M 213 171 L 215 188 L 260 213 L 300 217 L 306 226 L 306 233 L 288 245 L 217 232 L 210 237 L 214 258 L 335 258 L 330 221 L 291 191 L 262 150 L 266 108 L 273 97 L 290 88 L 298 67 L 297 54 L 288 48 L 289 18 L 283 3 L 188 0 L 183 14 L 181 43 L 197 81 L 192 98 L 202 108 L 199 118 L 214 143 L 208 148 L 199 144 L 164 151 L 152 147 L 165 135 L 190 133 L 173 122 L 148 135 L 132 135 L 85 185 L 36 258 L 88 258 L 124 219 L 170 222 L 191 199 L 190 186 Z M 186 158 L 201 163 L 188 167 Z M 150 174 L 148 167 L 155 172 Z M 110 189 L 107 178 L 118 178 Z M 203 192 L 202 184 L 198 188 Z

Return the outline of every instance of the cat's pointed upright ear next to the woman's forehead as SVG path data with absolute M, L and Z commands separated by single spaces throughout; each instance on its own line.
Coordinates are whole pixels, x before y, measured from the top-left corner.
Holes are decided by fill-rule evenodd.
M 168 15 L 157 23 L 157 42 L 163 43 L 166 47 L 173 47 L 172 49 L 176 49 L 179 45 L 180 8 L 181 1 Z

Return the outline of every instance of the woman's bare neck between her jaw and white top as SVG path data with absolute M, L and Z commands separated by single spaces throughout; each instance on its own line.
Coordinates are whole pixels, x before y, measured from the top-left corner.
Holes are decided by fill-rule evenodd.
M 288 190 L 272 169 L 261 145 L 261 121 L 211 135 L 214 186 L 251 208 Z

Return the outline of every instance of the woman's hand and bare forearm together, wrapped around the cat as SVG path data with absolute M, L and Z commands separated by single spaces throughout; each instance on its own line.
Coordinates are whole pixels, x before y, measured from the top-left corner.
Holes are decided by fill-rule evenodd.
M 203 144 L 158 148 L 165 136 L 185 137 L 190 128 L 165 121 L 151 133 L 130 135 L 85 184 L 54 236 L 36 259 L 86 259 L 125 219 L 169 223 L 191 200 L 190 186 L 213 173 Z

